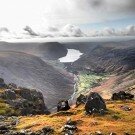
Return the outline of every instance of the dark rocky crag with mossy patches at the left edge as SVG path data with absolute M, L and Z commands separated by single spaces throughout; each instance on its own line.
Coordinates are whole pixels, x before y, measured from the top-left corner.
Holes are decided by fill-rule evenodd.
M 17 88 L 15 84 L 6 85 L 2 80 L 0 84 L 1 115 L 49 113 L 41 92 L 27 88 Z

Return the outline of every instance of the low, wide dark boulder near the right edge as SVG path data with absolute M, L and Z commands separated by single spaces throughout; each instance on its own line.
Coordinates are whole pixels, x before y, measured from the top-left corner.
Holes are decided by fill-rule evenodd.
M 118 93 L 114 93 L 111 97 L 112 100 L 132 100 L 134 95 L 127 93 L 125 91 L 120 91 Z

